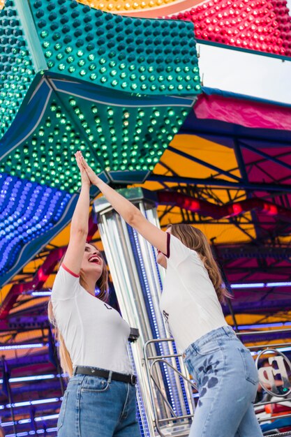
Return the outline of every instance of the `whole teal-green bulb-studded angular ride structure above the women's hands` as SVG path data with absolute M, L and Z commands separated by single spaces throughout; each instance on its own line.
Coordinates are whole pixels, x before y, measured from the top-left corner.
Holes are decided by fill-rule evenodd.
M 121 17 L 75 0 L 29 5 L 17 2 L 18 12 L 25 29 L 36 25 L 39 40 L 29 47 L 49 69 L 36 77 L 14 2 L 6 1 L 0 171 L 73 193 L 81 149 L 96 172 L 142 182 L 201 91 L 193 24 Z M 23 101 L 28 89 L 33 98 Z M 22 122 L 9 135 L 18 110 Z

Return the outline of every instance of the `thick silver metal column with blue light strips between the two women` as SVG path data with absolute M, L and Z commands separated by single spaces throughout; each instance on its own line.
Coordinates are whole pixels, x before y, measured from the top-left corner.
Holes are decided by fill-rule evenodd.
M 133 202 L 151 223 L 159 226 L 156 214 L 156 195 L 142 188 L 122 189 L 121 193 Z M 94 213 L 103 242 L 107 262 L 112 275 L 122 316 L 131 327 L 137 327 L 140 338 L 132 344 L 132 355 L 139 380 L 138 390 L 144 403 L 144 423 L 147 436 L 154 437 L 154 410 L 165 417 L 167 406 L 158 394 L 151 397 L 147 370 L 144 366 L 143 346 L 149 339 L 167 337 L 163 316 L 159 308 L 163 269 L 156 262 L 156 251 L 143 237 L 112 209 L 105 198 L 94 202 Z M 152 345 L 151 355 L 172 355 L 172 345 L 163 342 Z M 169 366 L 161 363 L 156 369 L 157 379 L 163 385 L 163 392 L 177 415 L 187 415 L 191 405 L 191 394 L 184 385 L 181 387 L 179 376 Z M 147 422 L 147 424 L 146 424 Z M 184 424 L 189 427 L 188 424 Z

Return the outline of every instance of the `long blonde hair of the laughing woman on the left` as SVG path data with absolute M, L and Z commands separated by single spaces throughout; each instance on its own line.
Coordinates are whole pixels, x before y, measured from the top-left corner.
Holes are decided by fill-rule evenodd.
M 107 267 L 105 264 L 104 257 L 102 253 L 99 252 L 100 258 L 103 260 L 103 269 L 100 278 L 96 282 L 96 288 L 100 290 L 98 294 L 98 299 L 102 300 L 103 302 L 107 302 L 109 292 L 108 292 L 108 272 Z M 63 262 L 65 257 L 65 254 L 62 256 L 59 267 L 61 267 L 61 263 Z M 82 269 L 80 270 L 80 285 L 84 288 L 86 288 L 86 281 L 85 281 L 85 275 Z M 61 369 L 63 369 L 64 373 L 68 373 L 68 376 L 73 375 L 73 362 L 70 358 L 70 353 L 68 352 L 68 349 L 66 348 L 66 344 L 64 341 L 64 337 L 61 335 L 61 332 L 59 330 L 59 327 L 57 326 L 57 320 L 54 317 L 54 309 L 52 306 L 52 299 L 49 300 L 47 305 L 47 313 L 48 318 L 50 320 L 50 323 L 54 327 L 54 335 L 56 340 L 59 342 L 59 360 L 61 363 Z

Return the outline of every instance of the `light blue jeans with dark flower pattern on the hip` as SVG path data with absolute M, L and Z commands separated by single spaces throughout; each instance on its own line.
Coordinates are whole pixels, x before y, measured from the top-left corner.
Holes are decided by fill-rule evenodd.
M 183 356 L 200 394 L 189 437 L 261 437 L 253 409 L 258 371 L 232 327 L 205 334 Z

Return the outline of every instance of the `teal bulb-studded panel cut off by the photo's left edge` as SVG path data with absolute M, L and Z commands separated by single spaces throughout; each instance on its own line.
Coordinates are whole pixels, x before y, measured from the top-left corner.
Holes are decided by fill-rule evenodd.
M 0 138 L 6 133 L 36 73 L 12 0 L 0 10 Z

